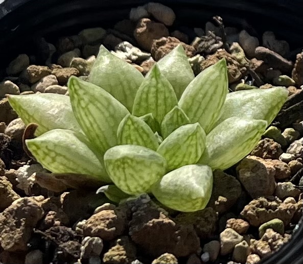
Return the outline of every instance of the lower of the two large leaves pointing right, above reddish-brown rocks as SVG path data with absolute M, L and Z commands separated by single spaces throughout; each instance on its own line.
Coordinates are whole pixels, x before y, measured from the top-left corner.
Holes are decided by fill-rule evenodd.
M 225 170 L 248 155 L 267 127 L 264 120 L 230 117 L 206 136 L 199 163 Z

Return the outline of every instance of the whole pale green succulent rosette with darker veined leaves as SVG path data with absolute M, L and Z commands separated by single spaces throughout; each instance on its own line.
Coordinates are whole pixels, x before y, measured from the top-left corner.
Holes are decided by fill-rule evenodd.
M 36 160 L 101 180 L 116 202 L 148 193 L 179 211 L 207 205 L 212 171 L 249 154 L 288 95 L 285 87 L 228 93 L 225 60 L 195 77 L 181 45 L 146 77 L 101 46 L 88 82 L 71 77 L 68 91 L 9 96 L 38 125 L 26 140 Z

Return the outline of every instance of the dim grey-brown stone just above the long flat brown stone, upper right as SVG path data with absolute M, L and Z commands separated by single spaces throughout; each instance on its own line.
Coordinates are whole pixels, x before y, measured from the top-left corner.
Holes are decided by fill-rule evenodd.
M 277 40 L 272 31 L 265 31 L 262 36 L 263 46 L 281 56 L 287 56 L 290 52 L 289 44 L 285 40 Z

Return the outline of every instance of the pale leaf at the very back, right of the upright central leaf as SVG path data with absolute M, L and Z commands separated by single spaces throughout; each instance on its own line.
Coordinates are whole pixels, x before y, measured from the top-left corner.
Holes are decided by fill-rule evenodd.
M 173 86 L 179 100 L 185 88 L 195 78 L 182 45 L 179 44 L 175 47 L 168 55 L 160 59 L 157 64 L 161 73 Z

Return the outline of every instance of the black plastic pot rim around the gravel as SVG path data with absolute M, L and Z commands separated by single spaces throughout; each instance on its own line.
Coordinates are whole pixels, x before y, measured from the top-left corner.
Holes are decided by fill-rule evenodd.
M 127 18 L 130 8 L 143 0 L 0 0 L 0 72 L 21 52 L 36 54 L 39 37 L 49 41 L 72 35 L 87 27 L 107 28 Z M 180 25 L 203 27 L 220 15 L 228 26 L 244 28 L 259 38 L 266 30 L 290 43 L 291 50 L 303 46 L 302 0 L 163 0 L 173 8 Z M 12 56 L 12 57 L 11 57 Z M 303 218 L 301 219 L 301 222 Z M 264 264 L 303 264 L 303 224 L 291 241 Z

